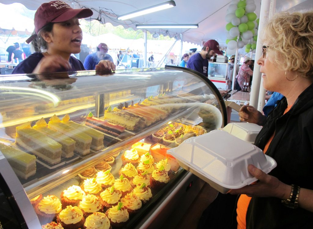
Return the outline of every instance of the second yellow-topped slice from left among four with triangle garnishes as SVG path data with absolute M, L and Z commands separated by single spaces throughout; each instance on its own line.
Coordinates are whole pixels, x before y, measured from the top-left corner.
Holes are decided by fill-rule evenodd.
M 58 133 L 55 130 L 49 129 L 47 127 L 47 122 L 44 121 L 44 118 L 39 119 L 36 122 L 36 125 L 33 126 L 33 129 L 39 131 L 40 133 L 47 135 L 52 138 L 54 141 L 57 141 L 62 145 L 62 156 L 65 158 L 70 158 L 74 156 L 75 141 L 72 138 L 67 137 L 62 133 Z

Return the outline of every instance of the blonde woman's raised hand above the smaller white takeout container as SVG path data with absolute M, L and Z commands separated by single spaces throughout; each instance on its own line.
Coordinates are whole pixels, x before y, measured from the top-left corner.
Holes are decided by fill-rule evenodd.
M 244 105 L 239 110 L 239 120 L 242 122 L 255 123 L 263 126 L 266 121 L 266 116 L 252 106 Z

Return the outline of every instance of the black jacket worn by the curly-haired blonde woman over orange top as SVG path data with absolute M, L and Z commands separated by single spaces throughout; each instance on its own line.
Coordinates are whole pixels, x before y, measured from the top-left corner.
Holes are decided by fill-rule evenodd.
M 285 184 L 313 190 L 313 84 L 305 89 L 291 107 L 283 98 L 269 113 L 267 122 L 255 140 L 264 149 L 275 132 L 266 152 L 277 167 L 269 174 Z M 253 197 L 247 211 L 247 229 L 313 228 L 313 213 L 302 208 L 285 207 L 278 198 Z

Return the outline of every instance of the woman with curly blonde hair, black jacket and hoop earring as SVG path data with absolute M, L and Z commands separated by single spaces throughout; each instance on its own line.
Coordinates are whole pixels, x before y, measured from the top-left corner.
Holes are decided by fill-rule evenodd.
M 255 145 L 274 158 L 269 174 L 248 166 L 259 181 L 232 190 L 237 228 L 312 228 L 313 225 L 313 12 L 275 14 L 263 31 L 257 63 L 263 87 L 285 97 L 271 111 Z M 251 106 L 239 112 L 254 122 Z

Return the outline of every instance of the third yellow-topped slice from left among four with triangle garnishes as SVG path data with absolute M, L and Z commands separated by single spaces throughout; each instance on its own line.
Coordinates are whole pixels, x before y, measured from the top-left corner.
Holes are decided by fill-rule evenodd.
M 53 129 L 59 133 L 63 133 L 66 136 L 74 139 L 74 141 L 76 142 L 75 151 L 77 153 L 81 155 L 86 155 L 90 153 L 90 144 L 92 138 L 75 128 L 65 125 L 56 115 L 50 118 L 48 128 Z

